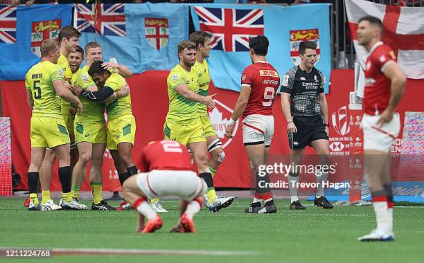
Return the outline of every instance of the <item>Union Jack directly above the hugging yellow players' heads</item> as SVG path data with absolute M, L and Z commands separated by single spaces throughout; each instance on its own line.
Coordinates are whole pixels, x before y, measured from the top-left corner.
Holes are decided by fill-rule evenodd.
M 123 3 L 77 4 L 73 26 L 80 32 L 123 37 L 127 35 L 124 8 Z

